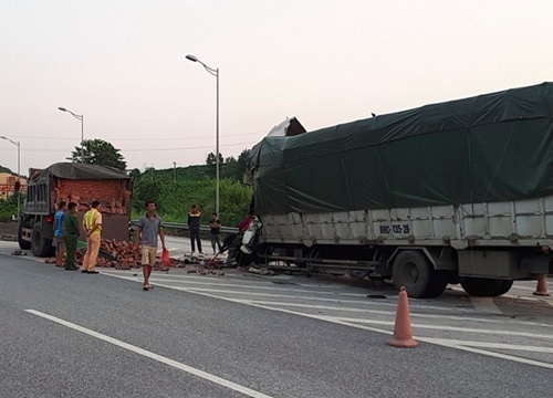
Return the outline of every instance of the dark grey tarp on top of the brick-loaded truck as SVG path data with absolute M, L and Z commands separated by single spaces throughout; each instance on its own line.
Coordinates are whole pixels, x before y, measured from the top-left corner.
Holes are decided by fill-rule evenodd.
M 98 165 L 58 163 L 31 176 L 31 181 L 51 175 L 64 179 L 131 179 L 116 168 Z

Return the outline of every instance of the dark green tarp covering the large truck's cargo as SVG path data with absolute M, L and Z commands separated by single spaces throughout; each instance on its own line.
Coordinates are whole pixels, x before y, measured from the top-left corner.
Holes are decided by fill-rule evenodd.
M 250 171 L 259 214 L 553 195 L 553 83 L 265 137 Z

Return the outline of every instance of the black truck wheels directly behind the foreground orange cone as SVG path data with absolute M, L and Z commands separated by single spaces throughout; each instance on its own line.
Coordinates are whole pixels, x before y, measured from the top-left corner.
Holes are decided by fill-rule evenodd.
M 432 298 L 446 290 L 448 274 L 434 270 L 426 255 L 418 250 L 400 252 L 394 260 L 392 275 L 396 289 L 405 286 L 414 298 Z

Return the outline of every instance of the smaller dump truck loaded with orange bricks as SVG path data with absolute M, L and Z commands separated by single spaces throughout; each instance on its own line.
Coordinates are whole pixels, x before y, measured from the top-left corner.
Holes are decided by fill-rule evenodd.
M 92 201 L 98 200 L 102 237 L 128 240 L 132 191 L 132 178 L 112 167 L 58 163 L 45 169 L 30 169 L 19 224 L 19 247 L 31 249 L 36 256 L 52 255 L 53 221 L 61 201 L 77 203 L 82 223 Z M 79 240 L 86 240 L 84 232 Z

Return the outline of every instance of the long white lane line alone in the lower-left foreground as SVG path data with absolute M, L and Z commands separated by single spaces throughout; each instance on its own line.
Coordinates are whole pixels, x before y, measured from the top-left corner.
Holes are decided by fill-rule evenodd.
M 104 342 L 107 342 L 107 343 L 111 343 L 113 345 L 116 345 L 118 347 L 122 347 L 122 348 L 125 348 L 125 349 L 128 349 L 133 353 L 136 353 L 136 354 L 139 354 L 139 355 L 143 355 L 145 357 L 148 357 L 150 359 L 154 359 L 154 360 L 157 360 L 159 363 L 163 363 L 165 365 L 169 365 L 169 366 L 173 366 L 179 370 L 182 370 L 182 371 L 186 371 L 190 375 L 194 375 L 194 376 L 198 376 L 198 377 L 201 377 L 202 379 L 206 379 L 208 381 L 211 381 L 211 383 L 215 383 L 215 384 L 218 384 L 220 386 L 223 386 L 223 387 L 227 387 L 229 389 L 232 389 L 234 391 L 238 391 L 238 392 L 241 392 L 243 395 L 247 395 L 249 397 L 254 397 L 254 398 L 271 398 L 270 396 L 265 395 L 265 394 L 262 394 L 262 392 L 259 392 L 259 391 L 255 391 L 255 390 L 252 390 L 248 387 L 244 387 L 244 386 L 241 386 L 241 385 L 238 385 L 236 383 L 232 383 L 232 381 L 229 381 L 227 379 L 223 379 L 221 377 L 218 377 L 218 376 L 215 376 L 215 375 L 211 375 L 211 374 L 208 374 L 207 371 L 204 371 L 204 370 L 200 370 L 200 369 L 197 369 L 195 367 L 191 367 L 191 366 L 188 366 L 188 365 L 185 365 L 185 364 L 181 364 L 179 362 L 176 362 L 176 360 L 173 360 L 173 359 L 169 359 L 167 357 L 164 357 L 161 355 L 157 355 L 155 353 L 152 353 L 152 352 L 148 352 L 146 349 L 143 349 L 140 347 L 137 347 L 137 346 L 134 346 L 134 345 L 131 345 L 131 344 L 127 344 L 127 343 L 124 343 L 122 341 L 118 341 L 116 338 L 113 338 L 113 337 L 109 337 L 109 336 L 106 336 L 106 335 L 103 335 L 101 333 L 97 333 L 97 332 L 94 332 L 94 331 L 91 331 L 86 327 L 83 327 L 83 326 L 79 326 L 74 323 L 71 323 L 71 322 L 67 322 L 67 321 L 64 321 L 64 320 L 61 320 L 59 317 L 55 317 L 55 316 L 52 316 L 52 315 L 49 315 L 49 314 L 45 314 L 45 313 L 42 313 L 40 311 L 35 311 L 35 310 L 25 310 L 25 312 L 30 313 L 30 314 L 33 314 L 33 315 L 36 315 L 36 316 L 40 316 L 40 317 L 43 317 L 45 320 L 49 320 L 49 321 L 52 321 L 52 322 L 55 322 L 60 325 L 63 325 L 63 326 L 66 326 L 66 327 L 70 327 L 74 331 L 77 331 L 77 332 L 81 332 L 81 333 L 84 333 L 84 334 L 87 334 L 90 336 L 93 336 L 93 337 L 96 337 L 101 341 L 104 341 Z

